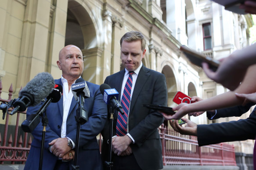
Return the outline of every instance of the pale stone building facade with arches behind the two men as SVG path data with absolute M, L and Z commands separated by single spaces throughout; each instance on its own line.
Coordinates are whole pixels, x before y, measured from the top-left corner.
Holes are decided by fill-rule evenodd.
M 20 88 L 37 73 L 59 78 L 58 52 L 68 44 L 83 52 L 83 79 L 103 83 L 106 76 L 123 69 L 119 40 L 135 30 L 147 40 L 144 66 L 166 76 L 172 107 L 177 91 L 204 99 L 227 91 L 191 64 L 180 45 L 214 59 L 226 57 L 249 44 L 252 19 L 210 0 L 0 0 L 0 23 L 2 98 L 8 98 L 11 83 L 18 97 Z M 204 114 L 191 120 L 212 122 Z M 252 153 L 252 144 L 235 142 L 241 153 Z

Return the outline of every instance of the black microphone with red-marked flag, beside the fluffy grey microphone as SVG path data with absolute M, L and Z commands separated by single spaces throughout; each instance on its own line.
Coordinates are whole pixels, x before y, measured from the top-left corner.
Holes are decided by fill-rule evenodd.
M 46 108 L 49 106 L 50 103 L 57 103 L 62 96 L 62 86 L 59 84 L 55 84 L 52 92 L 46 97 L 47 100 L 43 103 L 41 108 L 37 111 L 36 114 L 30 114 L 29 117 L 22 122 L 22 130 L 24 132 L 31 133 L 36 126 L 40 122 L 41 114 L 43 114 L 46 110 Z

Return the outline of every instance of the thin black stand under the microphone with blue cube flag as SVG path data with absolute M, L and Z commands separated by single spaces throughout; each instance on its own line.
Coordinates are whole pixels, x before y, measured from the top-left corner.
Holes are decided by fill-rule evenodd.
M 110 114 L 109 137 L 108 137 L 109 154 L 108 154 L 108 161 L 105 161 L 105 164 L 107 165 L 108 169 L 111 170 L 111 167 L 113 167 L 113 162 L 111 162 L 111 157 L 112 157 L 113 114 L 114 114 L 112 106 L 110 106 L 109 108 L 109 114 Z

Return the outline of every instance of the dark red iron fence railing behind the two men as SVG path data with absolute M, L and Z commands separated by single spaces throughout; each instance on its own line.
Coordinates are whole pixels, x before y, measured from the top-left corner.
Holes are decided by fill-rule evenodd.
M 0 102 L 7 103 L 12 97 L 12 85 L 9 88 L 8 100 L 1 99 L 2 83 L 0 81 Z M 1 112 L 0 112 L 1 114 Z M 9 125 L 9 114 L 6 115 L 5 125 L 0 126 L 0 163 L 22 163 L 24 164 L 29 154 L 32 138 L 31 134 L 22 132 L 19 126 L 20 114 L 16 115 L 16 125 Z M 14 130 L 8 132 L 8 128 L 13 126 Z M 4 133 L 2 141 L 1 134 Z M 159 134 L 162 141 L 162 156 L 164 165 L 234 165 L 235 152 L 234 146 L 220 143 L 216 145 L 198 147 L 195 136 L 180 135 L 172 128 L 165 128 L 163 125 L 159 128 Z M 19 137 L 19 139 L 18 139 Z M 8 139 L 8 142 L 7 142 Z M 14 140 L 13 140 L 14 139 Z M 29 140 L 28 140 L 29 139 Z M 101 135 L 99 146 L 101 149 Z

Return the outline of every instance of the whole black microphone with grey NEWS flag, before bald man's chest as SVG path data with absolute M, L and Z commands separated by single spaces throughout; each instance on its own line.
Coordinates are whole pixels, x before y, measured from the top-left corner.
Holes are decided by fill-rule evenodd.
M 90 97 L 90 91 L 82 77 L 77 79 L 75 84 L 72 84 L 72 93 L 79 104 L 76 110 L 76 121 L 83 125 L 88 121 L 88 113 L 83 108 L 84 98 Z

